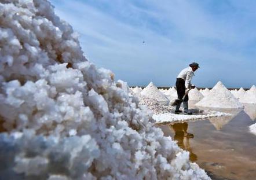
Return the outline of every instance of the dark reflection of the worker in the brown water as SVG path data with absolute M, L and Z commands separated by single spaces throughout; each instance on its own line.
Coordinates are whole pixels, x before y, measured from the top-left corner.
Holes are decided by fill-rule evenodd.
M 192 133 L 188 133 L 188 123 L 175 123 L 170 125 L 170 128 L 174 130 L 174 140 L 178 141 L 177 144 L 180 148 L 189 152 L 189 159 L 191 161 L 198 160 L 198 156 L 192 152 L 192 148 L 189 144 L 189 139 L 193 138 Z

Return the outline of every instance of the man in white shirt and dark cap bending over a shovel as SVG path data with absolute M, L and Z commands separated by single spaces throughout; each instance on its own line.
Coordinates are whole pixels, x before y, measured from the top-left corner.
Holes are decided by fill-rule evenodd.
M 186 91 L 188 91 L 189 88 L 194 89 L 195 86 L 191 84 L 191 79 L 195 75 L 194 72 L 196 69 L 199 68 L 198 63 L 191 63 L 189 64 L 188 68 L 182 69 L 180 74 L 177 76 L 176 80 L 176 89 L 178 94 L 178 99 L 180 100 L 180 103 L 176 105 L 175 113 L 180 113 L 180 106 L 182 102 L 182 98 L 184 97 Z M 184 107 L 184 113 L 188 115 L 192 115 L 192 112 L 188 109 L 188 95 L 185 96 L 183 101 L 183 107 Z

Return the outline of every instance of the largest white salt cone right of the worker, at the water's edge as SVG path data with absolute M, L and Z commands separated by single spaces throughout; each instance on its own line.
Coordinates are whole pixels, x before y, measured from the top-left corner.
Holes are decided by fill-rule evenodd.
M 195 105 L 210 108 L 243 108 L 243 105 L 220 81 L 213 87 L 213 89 L 211 89 L 209 95 Z

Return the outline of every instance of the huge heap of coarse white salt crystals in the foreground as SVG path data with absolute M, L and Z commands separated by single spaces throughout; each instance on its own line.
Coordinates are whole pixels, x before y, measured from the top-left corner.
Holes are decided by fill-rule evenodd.
M 0 14 L 0 179 L 210 179 L 49 2 L 1 1 Z

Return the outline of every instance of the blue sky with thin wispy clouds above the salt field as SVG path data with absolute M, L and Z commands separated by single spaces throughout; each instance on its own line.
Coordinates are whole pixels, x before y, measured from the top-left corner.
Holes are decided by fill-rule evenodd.
M 97 67 L 129 86 L 174 86 L 196 61 L 192 83 L 256 85 L 256 1 L 50 0 Z

